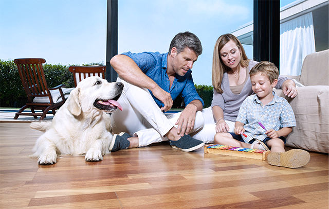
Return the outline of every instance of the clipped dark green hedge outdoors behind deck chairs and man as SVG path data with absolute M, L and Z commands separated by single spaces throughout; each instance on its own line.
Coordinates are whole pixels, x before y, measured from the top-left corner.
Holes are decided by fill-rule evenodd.
M 89 63 L 85 65 L 104 65 L 104 63 Z M 43 65 L 45 77 L 49 88 L 60 84 L 65 84 L 66 88 L 74 87 L 73 75 L 68 71 L 70 65 Z M 211 105 L 213 88 L 210 85 L 195 85 L 197 93 L 204 100 L 207 108 Z M 12 60 L 0 59 L 0 107 L 21 108 L 27 102 L 27 96 L 23 90 L 17 65 Z M 173 107 L 175 109 L 185 108 L 182 97 L 175 99 Z

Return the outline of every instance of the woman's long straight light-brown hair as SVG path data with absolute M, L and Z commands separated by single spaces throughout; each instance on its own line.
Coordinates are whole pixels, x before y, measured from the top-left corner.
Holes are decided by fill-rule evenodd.
M 232 34 L 224 34 L 220 36 L 220 38 L 217 39 L 215 47 L 214 47 L 214 54 L 212 57 L 212 86 L 218 93 L 223 93 L 223 90 L 221 88 L 222 81 L 223 81 L 223 75 L 225 72 L 229 71 L 229 67 L 226 66 L 221 58 L 220 51 L 222 48 L 232 40 L 236 46 L 241 50 L 241 60 L 240 60 L 240 67 L 247 67 L 249 63 L 249 59 L 245 53 L 245 49 L 241 45 L 241 42 L 239 39 L 237 39 Z

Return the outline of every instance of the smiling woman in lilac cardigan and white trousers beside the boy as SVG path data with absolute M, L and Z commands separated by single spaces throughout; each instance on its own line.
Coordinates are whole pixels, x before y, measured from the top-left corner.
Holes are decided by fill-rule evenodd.
M 233 132 L 242 102 L 253 93 L 249 71 L 257 63 L 247 58 L 239 39 L 232 34 L 218 38 L 212 60 L 211 108 L 203 110 L 205 126 L 194 138 L 211 143 L 215 133 Z M 297 95 L 295 82 L 284 76 L 279 76 L 276 89 L 291 98 Z

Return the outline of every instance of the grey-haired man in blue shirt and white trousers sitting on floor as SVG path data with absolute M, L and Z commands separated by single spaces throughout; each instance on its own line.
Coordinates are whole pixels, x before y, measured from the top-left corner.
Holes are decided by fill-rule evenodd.
M 173 148 L 193 151 L 205 144 L 189 133 L 203 128 L 200 112 L 204 102 L 197 94 L 191 68 L 202 54 L 200 40 L 191 32 L 178 33 L 169 53 L 124 53 L 111 59 L 124 84 L 118 102 L 122 111 L 111 115 L 114 133 L 110 151 L 170 141 Z M 173 100 L 181 94 L 186 108 L 166 116 Z

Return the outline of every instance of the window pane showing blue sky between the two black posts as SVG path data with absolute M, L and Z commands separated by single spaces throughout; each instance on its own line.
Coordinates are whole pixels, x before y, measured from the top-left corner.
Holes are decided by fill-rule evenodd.
M 195 84 L 211 85 L 216 40 L 253 19 L 253 0 L 118 1 L 118 54 L 126 51 L 167 53 L 178 32 L 196 34 L 203 54 L 194 63 Z M 252 58 L 252 47 L 246 47 Z

